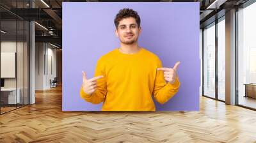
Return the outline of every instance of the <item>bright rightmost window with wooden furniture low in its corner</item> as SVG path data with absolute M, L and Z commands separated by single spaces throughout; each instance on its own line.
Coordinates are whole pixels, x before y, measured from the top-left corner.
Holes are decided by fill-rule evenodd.
M 237 88 L 239 105 L 256 109 L 256 3 L 237 11 Z

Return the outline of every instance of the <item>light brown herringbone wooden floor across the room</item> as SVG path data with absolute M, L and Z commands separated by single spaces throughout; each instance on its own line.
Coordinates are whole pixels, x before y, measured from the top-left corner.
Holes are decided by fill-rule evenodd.
M 62 112 L 57 87 L 1 115 L 0 142 L 256 142 L 256 112 L 205 97 L 198 112 Z

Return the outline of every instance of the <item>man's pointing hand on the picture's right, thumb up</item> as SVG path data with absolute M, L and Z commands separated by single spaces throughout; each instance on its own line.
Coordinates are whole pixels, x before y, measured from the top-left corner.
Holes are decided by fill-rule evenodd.
M 178 61 L 175 63 L 173 68 L 157 68 L 157 70 L 162 70 L 164 72 L 164 79 L 166 82 L 170 82 L 170 84 L 173 84 L 177 78 L 177 68 L 179 66 L 180 62 Z

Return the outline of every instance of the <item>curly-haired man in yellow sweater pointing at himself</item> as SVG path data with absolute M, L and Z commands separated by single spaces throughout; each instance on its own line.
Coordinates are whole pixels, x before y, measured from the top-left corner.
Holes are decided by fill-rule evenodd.
M 120 10 L 115 26 L 120 48 L 100 57 L 92 79 L 83 72 L 81 98 L 94 104 L 103 102 L 102 111 L 155 111 L 152 94 L 163 104 L 179 90 L 180 62 L 162 68 L 159 57 L 138 45 L 141 27 L 136 11 Z

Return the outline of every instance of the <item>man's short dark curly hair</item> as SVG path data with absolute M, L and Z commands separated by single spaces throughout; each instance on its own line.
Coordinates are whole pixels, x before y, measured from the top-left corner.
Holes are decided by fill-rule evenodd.
M 137 11 L 134 11 L 129 8 L 124 8 L 122 10 L 119 10 L 119 12 L 116 14 L 114 23 L 116 26 L 116 29 L 118 29 L 119 22 L 122 19 L 126 19 L 129 17 L 133 17 L 136 20 L 136 23 L 138 24 L 138 27 L 140 27 L 140 16 L 138 15 Z

